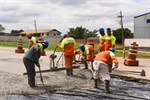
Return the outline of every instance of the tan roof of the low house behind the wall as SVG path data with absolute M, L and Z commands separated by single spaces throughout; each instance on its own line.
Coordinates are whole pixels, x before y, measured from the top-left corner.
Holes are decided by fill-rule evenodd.
M 38 29 L 37 30 L 37 34 L 40 34 L 40 33 L 47 33 L 47 32 L 51 32 L 51 31 L 57 31 L 58 33 L 61 33 L 60 31 L 56 30 L 56 29 Z M 36 31 L 35 30 L 26 30 L 26 31 L 23 31 L 21 32 L 20 34 L 36 34 Z

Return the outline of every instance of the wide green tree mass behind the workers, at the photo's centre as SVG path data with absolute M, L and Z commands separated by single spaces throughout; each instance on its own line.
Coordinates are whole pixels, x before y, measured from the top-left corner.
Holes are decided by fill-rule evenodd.
M 96 37 L 97 31 L 89 31 L 86 28 L 83 28 L 82 26 L 76 27 L 76 28 L 69 28 L 69 31 L 67 32 L 69 36 L 75 38 L 75 39 L 83 39 L 83 38 L 89 38 L 89 37 Z

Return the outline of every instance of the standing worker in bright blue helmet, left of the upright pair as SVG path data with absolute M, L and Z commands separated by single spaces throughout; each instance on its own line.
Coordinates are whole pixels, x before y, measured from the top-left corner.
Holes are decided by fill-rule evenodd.
M 104 28 L 99 28 L 99 33 L 100 33 L 100 36 L 99 36 L 99 46 L 98 46 L 98 51 L 99 52 L 102 52 L 102 51 L 105 51 L 105 31 L 104 31 Z

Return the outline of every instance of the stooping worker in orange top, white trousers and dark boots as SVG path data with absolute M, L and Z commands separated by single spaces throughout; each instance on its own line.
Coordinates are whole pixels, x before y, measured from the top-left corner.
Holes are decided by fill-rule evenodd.
M 95 82 L 95 88 L 98 88 L 98 79 L 101 76 L 102 80 L 105 83 L 105 90 L 106 93 L 111 93 L 109 90 L 110 86 L 110 74 L 109 74 L 109 68 L 108 64 L 114 62 L 116 64 L 116 68 L 118 67 L 118 60 L 114 56 L 114 48 L 110 48 L 109 51 L 103 51 L 96 55 L 94 62 L 93 62 L 93 68 L 94 68 L 94 82 Z M 100 76 L 99 76 L 100 75 Z

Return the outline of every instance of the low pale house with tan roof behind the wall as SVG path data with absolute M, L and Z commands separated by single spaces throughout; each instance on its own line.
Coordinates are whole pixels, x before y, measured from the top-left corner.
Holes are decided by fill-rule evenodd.
M 25 36 L 26 34 L 32 34 L 37 37 L 61 37 L 61 32 L 56 29 L 38 29 L 36 30 L 26 30 L 21 32 L 20 35 Z

